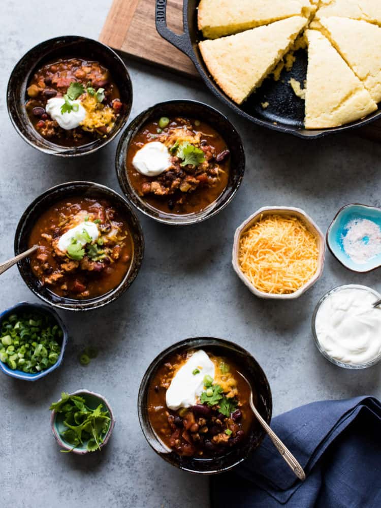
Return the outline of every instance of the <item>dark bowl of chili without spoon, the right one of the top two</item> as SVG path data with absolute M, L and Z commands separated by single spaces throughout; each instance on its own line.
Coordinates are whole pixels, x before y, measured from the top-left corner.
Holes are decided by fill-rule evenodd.
M 154 144 L 158 152 L 143 155 Z M 160 157 L 162 166 L 149 167 L 147 157 L 154 165 Z M 147 168 L 155 174 L 147 174 Z M 143 111 L 124 131 L 116 153 L 124 195 L 141 212 L 171 225 L 195 224 L 222 210 L 235 196 L 244 169 L 234 125 L 196 101 L 168 101 Z

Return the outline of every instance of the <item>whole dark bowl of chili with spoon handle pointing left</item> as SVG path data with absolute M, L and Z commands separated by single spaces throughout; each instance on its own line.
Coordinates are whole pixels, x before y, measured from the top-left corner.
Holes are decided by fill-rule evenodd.
M 118 298 L 137 276 L 144 252 L 141 226 L 130 204 L 112 189 L 69 182 L 46 190 L 22 215 L 16 255 L 22 278 L 55 307 L 88 310 Z

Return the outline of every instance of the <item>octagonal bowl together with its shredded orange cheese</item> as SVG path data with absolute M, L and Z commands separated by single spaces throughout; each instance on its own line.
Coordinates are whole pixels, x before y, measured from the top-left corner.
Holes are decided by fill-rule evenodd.
M 234 235 L 233 268 L 260 298 L 298 298 L 323 274 L 324 257 L 324 235 L 300 208 L 260 208 Z

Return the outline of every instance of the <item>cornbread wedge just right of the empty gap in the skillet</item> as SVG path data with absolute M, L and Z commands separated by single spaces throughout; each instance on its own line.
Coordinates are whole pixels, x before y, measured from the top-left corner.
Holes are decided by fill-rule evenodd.
M 305 101 L 306 129 L 326 129 L 363 118 L 377 109 L 362 82 L 329 40 L 306 30 L 308 68 Z

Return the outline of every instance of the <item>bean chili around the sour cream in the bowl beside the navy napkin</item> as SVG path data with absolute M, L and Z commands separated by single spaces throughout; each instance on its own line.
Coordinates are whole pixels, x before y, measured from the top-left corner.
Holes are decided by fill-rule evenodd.
M 192 407 L 169 409 L 167 389 L 177 370 L 193 353 L 175 354 L 158 368 L 149 386 L 148 415 L 156 435 L 174 452 L 188 457 L 212 458 L 228 453 L 248 436 L 253 422 L 249 389 L 234 362 L 206 351 L 216 367 L 210 387 L 219 385 L 225 402 L 229 401 L 228 409 L 224 400 L 214 405 L 198 400 Z

